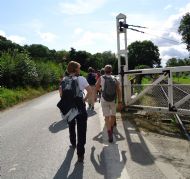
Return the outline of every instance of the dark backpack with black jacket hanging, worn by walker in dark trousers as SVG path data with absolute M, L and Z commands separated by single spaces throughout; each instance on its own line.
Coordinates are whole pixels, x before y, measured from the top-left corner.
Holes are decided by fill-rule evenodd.
M 78 78 L 73 79 L 72 76 L 66 76 L 61 82 L 62 96 L 58 102 L 57 107 L 61 110 L 63 115 L 71 108 L 80 108 L 83 101 L 83 94 L 79 88 Z

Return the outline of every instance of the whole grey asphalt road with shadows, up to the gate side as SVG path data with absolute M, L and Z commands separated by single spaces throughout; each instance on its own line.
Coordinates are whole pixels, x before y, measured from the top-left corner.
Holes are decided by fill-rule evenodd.
M 119 115 L 114 142 L 108 143 L 100 103 L 89 112 L 85 160 L 77 163 L 76 151 L 69 148 L 67 123 L 56 107 L 58 100 L 55 91 L 0 112 L 0 178 L 188 178 L 181 173 L 185 170 L 176 170 L 166 160 L 169 153 L 165 156 L 165 151 L 172 154 L 174 150 L 163 145 L 163 137 L 155 140 L 150 134 L 143 135 Z M 167 144 L 173 143 L 167 139 Z M 189 164 L 185 166 L 189 168 Z

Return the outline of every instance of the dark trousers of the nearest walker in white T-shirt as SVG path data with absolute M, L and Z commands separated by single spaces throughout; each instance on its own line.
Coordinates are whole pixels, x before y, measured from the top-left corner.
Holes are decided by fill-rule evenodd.
M 76 130 L 75 126 L 77 124 L 77 143 L 76 143 Z M 87 131 L 87 112 L 84 109 L 79 115 L 76 116 L 69 123 L 69 137 L 72 145 L 77 146 L 77 155 L 82 156 L 85 153 L 86 144 L 86 131 Z M 77 144 L 77 145 L 76 145 Z

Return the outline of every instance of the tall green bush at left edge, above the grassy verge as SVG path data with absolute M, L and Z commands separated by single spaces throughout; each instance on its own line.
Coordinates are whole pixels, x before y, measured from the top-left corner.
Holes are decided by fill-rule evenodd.
M 1 85 L 8 88 L 34 86 L 38 82 L 35 63 L 27 52 L 5 52 L 0 57 Z

